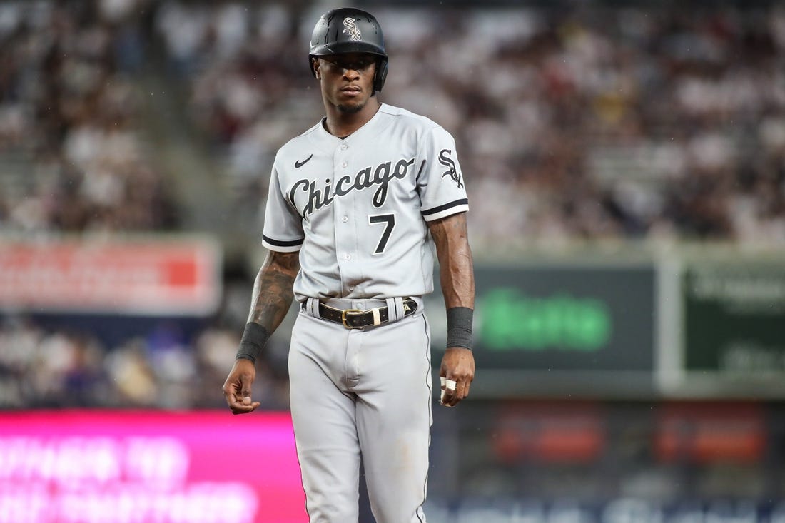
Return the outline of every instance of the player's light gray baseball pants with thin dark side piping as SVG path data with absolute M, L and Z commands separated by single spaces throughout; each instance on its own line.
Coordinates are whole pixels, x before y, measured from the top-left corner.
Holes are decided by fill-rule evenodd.
M 385 301 L 327 304 L 371 309 Z M 433 415 L 429 324 L 418 305 L 411 316 L 363 329 L 317 318 L 312 306 L 295 320 L 290 408 L 310 523 L 357 521 L 361 456 L 377 523 L 425 522 Z

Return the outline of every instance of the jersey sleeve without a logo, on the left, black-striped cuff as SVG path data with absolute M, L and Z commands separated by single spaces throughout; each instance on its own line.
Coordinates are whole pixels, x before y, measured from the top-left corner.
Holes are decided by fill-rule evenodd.
M 294 252 L 300 250 L 303 240 L 302 218 L 281 191 L 278 170 L 273 166 L 261 244 L 270 251 Z

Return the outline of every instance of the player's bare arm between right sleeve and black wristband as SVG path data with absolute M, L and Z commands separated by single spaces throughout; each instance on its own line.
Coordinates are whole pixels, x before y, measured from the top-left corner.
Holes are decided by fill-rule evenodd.
M 439 257 L 444 304 L 447 309 L 474 309 L 474 264 L 466 230 L 466 213 L 429 221 L 428 228 Z

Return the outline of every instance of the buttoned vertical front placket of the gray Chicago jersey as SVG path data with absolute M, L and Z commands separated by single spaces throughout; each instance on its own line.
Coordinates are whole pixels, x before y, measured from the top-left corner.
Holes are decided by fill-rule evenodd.
M 351 153 L 349 144 L 342 142 L 335 148 L 334 179 L 337 184 L 341 177 L 352 176 Z M 341 276 L 341 292 L 346 296 L 355 290 L 354 282 L 358 278 L 357 243 L 355 230 L 357 224 L 356 199 L 357 191 L 333 199 L 333 220 L 335 226 L 335 255 L 338 258 L 338 269 Z

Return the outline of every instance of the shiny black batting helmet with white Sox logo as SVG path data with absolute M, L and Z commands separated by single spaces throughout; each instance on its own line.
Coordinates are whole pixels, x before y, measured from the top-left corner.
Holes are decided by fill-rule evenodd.
M 374 90 L 381 91 L 387 78 L 387 53 L 382 27 L 371 13 L 342 7 L 327 11 L 316 22 L 308 55 L 311 73 L 316 75 L 312 58 L 345 53 L 371 53 L 378 57 Z

